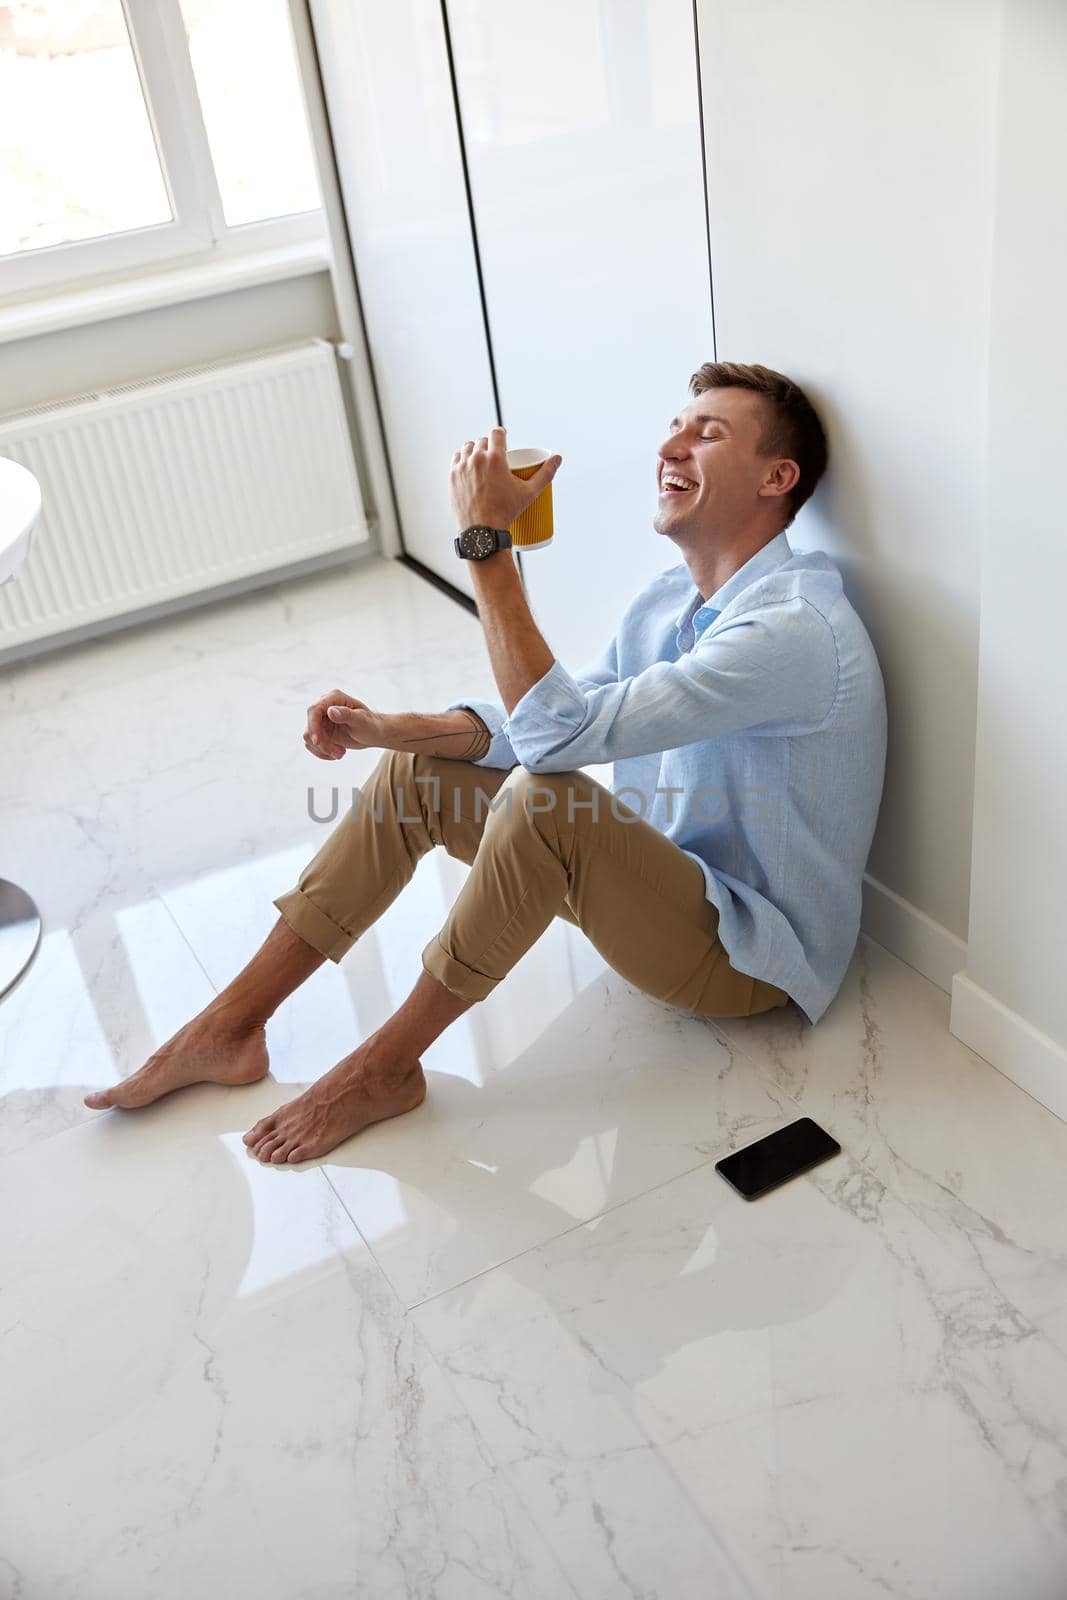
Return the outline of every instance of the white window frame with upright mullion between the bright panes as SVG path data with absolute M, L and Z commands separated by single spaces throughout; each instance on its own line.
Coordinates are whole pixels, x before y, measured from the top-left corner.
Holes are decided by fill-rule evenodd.
M 0 258 L 0 309 L 166 267 L 234 261 L 315 240 L 326 243 L 322 206 L 235 227 L 227 224 L 181 3 L 120 0 L 120 5 L 173 221 Z M 299 62 L 296 66 L 299 75 Z

